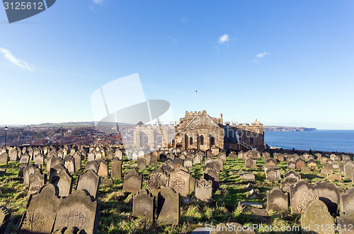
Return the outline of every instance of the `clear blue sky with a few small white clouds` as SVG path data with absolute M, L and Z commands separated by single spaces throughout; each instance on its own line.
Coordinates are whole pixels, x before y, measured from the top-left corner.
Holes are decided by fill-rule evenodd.
M 61 0 L 9 24 L 0 8 L 0 124 L 92 121 L 93 91 L 138 73 L 175 119 L 198 90 L 198 110 L 225 121 L 354 129 L 353 12 L 349 0 Z

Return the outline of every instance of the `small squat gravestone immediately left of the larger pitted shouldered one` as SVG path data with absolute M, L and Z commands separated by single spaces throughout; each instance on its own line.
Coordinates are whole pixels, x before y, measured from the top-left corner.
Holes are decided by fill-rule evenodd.
M 267 191 L 267 211 L 288 211 L 289 210 L 289 197 L 282 189 L 275 187 Z

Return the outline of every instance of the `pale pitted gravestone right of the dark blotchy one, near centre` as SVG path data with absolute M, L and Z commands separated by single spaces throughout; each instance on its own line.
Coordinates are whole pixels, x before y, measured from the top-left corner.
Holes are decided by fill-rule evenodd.
M 181 169 L 176 169 L 170 173 L 169 187 L 178 192 L 183 203 L 189 201 L 190 194 L 190 174 Z

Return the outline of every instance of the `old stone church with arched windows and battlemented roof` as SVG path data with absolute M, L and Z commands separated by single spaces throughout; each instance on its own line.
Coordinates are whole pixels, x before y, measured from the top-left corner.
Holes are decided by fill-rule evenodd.
M 207 112 L 185 112 L 177 125 L 136 125 L 134 145 L 139 147 L 174 147 L 186 150 L 224 149 L 232 151 L 263 151 L 263 124 L 257 120 L 250 124 L 230 124 L 210 117 Z

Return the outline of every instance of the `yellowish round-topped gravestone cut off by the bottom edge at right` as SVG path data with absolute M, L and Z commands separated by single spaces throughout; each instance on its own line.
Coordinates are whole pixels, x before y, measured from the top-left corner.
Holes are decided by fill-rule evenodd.
M 312 199 L 307 201 L 304 212 L 301 214 L 301 226 L 305 232 L 334 234 L 335 224 L 326 204 L 323 201 Z

